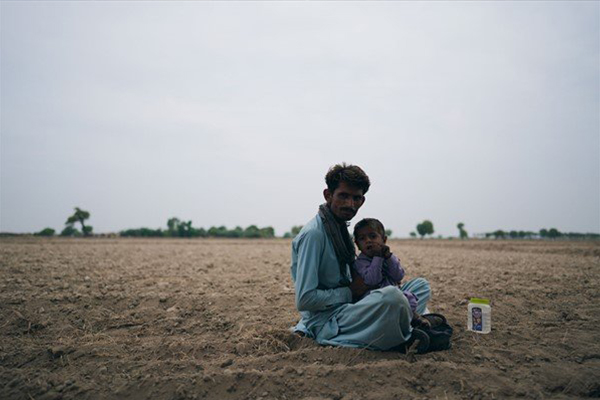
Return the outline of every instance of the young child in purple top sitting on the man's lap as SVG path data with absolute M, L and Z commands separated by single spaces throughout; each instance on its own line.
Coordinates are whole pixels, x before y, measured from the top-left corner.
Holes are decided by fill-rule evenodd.
M 365 284 L 382 288 L 386 286 L 399 286 L 404 278 L 404 269 L 400 260 L 391 253 L 385 244 L 387 236 L 383 224 L 375 218 L 365 218 L 354 227 L 354 241 L 360 254 L 354 261 L 354 271 L 363 278 Z M 365 296 L 370 292 L 365 293 Z M 413 322 L 423 322 L 417 314 L 417 297 L 403 291 L 408 299 L 413 312 Z

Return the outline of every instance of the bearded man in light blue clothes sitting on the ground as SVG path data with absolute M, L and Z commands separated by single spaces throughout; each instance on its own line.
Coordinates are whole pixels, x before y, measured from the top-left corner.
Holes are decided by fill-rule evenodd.
M 338 164 L 325 176 L 325 204 L 292 242 L 292 279 L 301 320 L 294 328 L 323 345 L 389 350 L 411 337 L 410 305 L 395 286 L 368 290 L 351 276 L 354 243 L 347 224 L 365 202 L 370 181 L 356 165 Z M 429 283 L 417 278 L 406 283 L 423 313 L 430 297 Z

